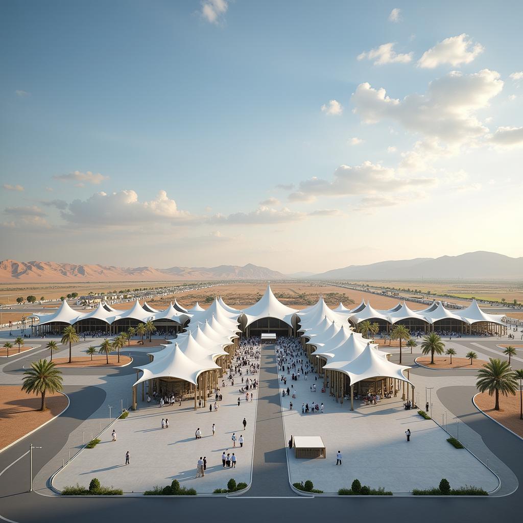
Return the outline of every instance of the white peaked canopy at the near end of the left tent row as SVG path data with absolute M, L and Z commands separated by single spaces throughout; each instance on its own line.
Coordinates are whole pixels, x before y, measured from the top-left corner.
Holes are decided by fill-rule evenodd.
M 142 376 L 134 385 L 154 378 L 177 378 L 196 385 L 196 380 L 202 372 L 219 369 L 218 365 L 212 362 L 192 361 L 183 353 L 177 343 L 166 347 L 164 350 L 167 350 L 168 353 L 164 354 L 163 357 L 154 359 L 147 365 L 134 367 L 142 371 Z

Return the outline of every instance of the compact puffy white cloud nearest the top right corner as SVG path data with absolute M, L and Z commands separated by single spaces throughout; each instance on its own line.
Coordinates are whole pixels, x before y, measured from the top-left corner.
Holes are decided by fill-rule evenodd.
M 438 42 L 433 48 L 425 51 L 418 60 L 418 67 L 434 69 L 438 65 L 450 64 L 457 67 L 472 62 L 477 55 L 483 52 L 480 43 L 473 43 L 469 35 L 453 36 Z

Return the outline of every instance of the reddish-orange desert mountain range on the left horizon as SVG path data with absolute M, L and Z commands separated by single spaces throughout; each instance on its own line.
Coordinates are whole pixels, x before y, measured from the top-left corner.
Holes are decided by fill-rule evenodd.
M 247 264 L 218 267 L 114 267 L 106 265 L 76 265 L 54 261 L 0 262 L 0 283 L 65 281 L 180 281 L 180 280 L 281 280 L 287 278 L 275 270 Z

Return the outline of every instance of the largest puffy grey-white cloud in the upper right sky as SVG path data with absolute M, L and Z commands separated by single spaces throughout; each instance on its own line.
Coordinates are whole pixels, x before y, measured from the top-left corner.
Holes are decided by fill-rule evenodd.
M 374 89 L 363 83 L 351 101 L 353 112 L 365 123 L 391 119 L 407 130 L 460 144 L 487 134 L 488 129 L 475 113 L 488 107 L 490 99 L 502 89 L 503 81 L 496 71 L 452 71 L 430 82 L 423 95 L 412 94 L 399 100 L 387 96 L 383 88 Z

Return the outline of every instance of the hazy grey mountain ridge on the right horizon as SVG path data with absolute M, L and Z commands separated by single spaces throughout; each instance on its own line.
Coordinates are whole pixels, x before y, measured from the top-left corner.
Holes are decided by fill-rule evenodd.
M 316 274 L 315 280 L 412 280 L 412 279 L 523 280 L 523 257 L 476 251 L 459 256 L 380 261 L 349 265 Z

